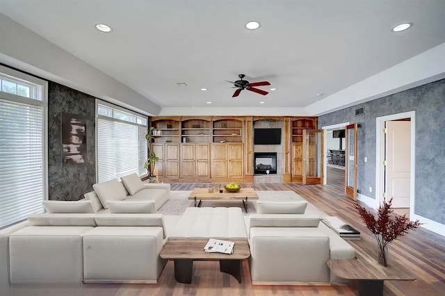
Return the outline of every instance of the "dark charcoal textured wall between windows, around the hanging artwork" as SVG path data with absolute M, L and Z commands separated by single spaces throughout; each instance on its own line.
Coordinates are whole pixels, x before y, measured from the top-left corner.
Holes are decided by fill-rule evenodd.
M 48 85 L 48 185 L 51 200 L 78 200 L 92 190 L 95 171 L 95 97 L 49 81 Z M 62 112 L 86 118 L 86 162 L 62 165 Z

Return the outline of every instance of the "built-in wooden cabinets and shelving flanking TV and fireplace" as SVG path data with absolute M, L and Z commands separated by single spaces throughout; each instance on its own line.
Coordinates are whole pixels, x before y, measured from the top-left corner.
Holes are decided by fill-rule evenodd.
M 152 117 L 155 174 L 165 181 L 253 182 L 254 117 Z M 267 117 L 261 120 L 267 120 Z M 273 120 L 280 120 L 273 117 Z M 305 163 L 303 131 L 317 128 L 316 117 L 282 117 L 284 182 L 302 183 L 316 161 Z M 313 156 L 311 146 L 308 158 Z M 306 166 L 305 166 L 306 165 Z

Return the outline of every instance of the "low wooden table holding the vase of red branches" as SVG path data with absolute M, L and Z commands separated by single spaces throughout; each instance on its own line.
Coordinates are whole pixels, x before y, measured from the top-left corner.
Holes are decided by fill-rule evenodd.
M 379 265 L 371 258 L 357 256 L 351 260 L 329 260 L 327 266 L 339 277 L 343 279 L 355 279 L 359 281 L 359 295 L 375 296 L 383 295 L 383 282 L 393 281 L 414 281 L 416 277 L 396 262 L 391 262 L 386 268 Z

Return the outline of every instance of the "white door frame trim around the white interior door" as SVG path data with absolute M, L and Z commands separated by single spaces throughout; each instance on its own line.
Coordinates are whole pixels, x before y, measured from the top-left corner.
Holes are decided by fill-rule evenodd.
M 411 173 L 410 173 L 410 217 L 414 217 L 415 195 L 415 176 L 416 176 L 416 111 L 397 113 L 375 118 L 375 201 L 376 206 L 383 202 L 383 192 L 385 190 L 384 183 L 384 167 L 385 158 L 385 122 L 391 120 L 401 120 L 410 118 L 411 129 Z

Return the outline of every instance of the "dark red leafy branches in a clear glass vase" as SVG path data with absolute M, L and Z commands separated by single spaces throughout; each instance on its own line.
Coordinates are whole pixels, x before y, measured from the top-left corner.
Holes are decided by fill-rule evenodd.
M 366 210 L 363 206 L 355 204 L 355 208 L 359 211 L 360 217 L 362 217 L 366 227 L 374 233 L 380 249 L 379 263 L 383 266 L 387 266 L 385 248 L 388 243 L 398 239 L 399 236 L 404 236 L 405 233 L 408 233 L 408 230 L 417 229 L 423 224 L 419 222 L 419 220 L 407 220 L 406 214 L 403 216 L 392 214 L 394 210 L 391 209 L 391 205 L 392 198 L 389 199 L 389 202 L 382 202 L 378 208 L 376 220 L 373 213 Z M 380 258 L 380 256 L 382 256 L 382 258 Z

